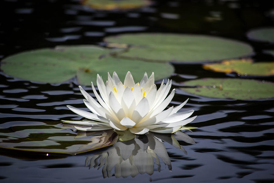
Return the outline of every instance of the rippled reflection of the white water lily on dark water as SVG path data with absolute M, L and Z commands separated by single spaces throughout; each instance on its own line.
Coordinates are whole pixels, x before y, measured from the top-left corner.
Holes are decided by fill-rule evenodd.
M 154 161 L 158 165 L 157 170 L 160 172 L 160 159 L 171 170 L 171 161 L 162 140 L 185 152 L 175 138 L 195 144 L 192 138 L 181 131 L 177 131 L 171 136 L 149 132 L 146 135 L 136 136 L 129 141 L 118 141 L 104 152 L 87 156 L 85 165 L 90 164 L 90 168 L 98 167 L 98 169 L 102 167 L 104 178 L 112 176 L 111 170 L 113 168 L 115 177 L 135 177 L 139 173 L 152 175 Z

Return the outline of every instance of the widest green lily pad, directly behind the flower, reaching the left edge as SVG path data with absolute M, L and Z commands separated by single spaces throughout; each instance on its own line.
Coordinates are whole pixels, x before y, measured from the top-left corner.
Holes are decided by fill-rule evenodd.
M 81 85 L 96 84 L 97 74 L 107 80 L 107 72 L 114 71 L 121 80 L 131 71 L 136 82 L 144 72 L 154 72 L 159 80 L 174 72 L 167 63 L 148 63 L 138 60 L 113 58 L 108 55 L 111 50 L 95 46 L 58 46 L 54 49 L 44 48 L 22 52 L 2 60 L 1 70 L 5 74 L 30 81 L 61 83 L 77 78 Z

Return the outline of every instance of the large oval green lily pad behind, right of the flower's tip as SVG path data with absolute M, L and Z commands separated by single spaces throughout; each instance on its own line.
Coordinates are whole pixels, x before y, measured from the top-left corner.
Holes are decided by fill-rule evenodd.
M 225 38 L 191 34 L 121 34 L 104 39 L 109 43 L 128 44 L 118 57 L 146 61 L 206 62 L 250 55 L 250 45 Z

